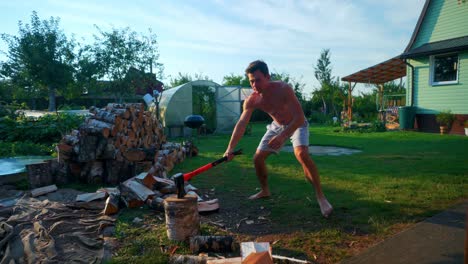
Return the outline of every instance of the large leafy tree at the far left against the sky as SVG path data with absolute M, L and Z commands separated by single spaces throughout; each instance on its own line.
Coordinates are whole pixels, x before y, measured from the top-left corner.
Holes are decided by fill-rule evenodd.
M 19 36 L 2 34 L 8 45 L 7 61 L 0 75 L 30 97 L 49 97 L 49 111 L 56 109 L 55 97 L 73 81 L 74 40 L 59 28 L 59 18 L 41 21 L 35 11 L 30 24 L 19 21 Z

